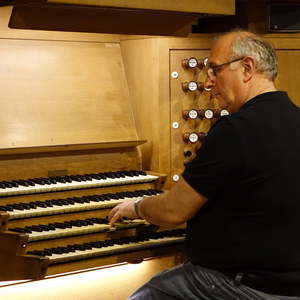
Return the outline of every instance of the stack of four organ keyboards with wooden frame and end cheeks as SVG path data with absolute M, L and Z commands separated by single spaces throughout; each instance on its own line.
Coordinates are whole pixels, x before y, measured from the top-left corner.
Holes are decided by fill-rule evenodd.
M 0 279 L 37 279 L 177 252 L 183 230 L 107 221 L 115 205 L 161 193 L 159 180 L 131 170 L 0 182 L 0 264 L 17 265 Z

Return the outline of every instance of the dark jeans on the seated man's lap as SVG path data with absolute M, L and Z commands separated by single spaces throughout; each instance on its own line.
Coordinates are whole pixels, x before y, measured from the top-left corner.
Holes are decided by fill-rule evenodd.
M 222 273 L 191 263 L 154 276 L 128 300 L 300 300 L 300 297 L 269 295 Z

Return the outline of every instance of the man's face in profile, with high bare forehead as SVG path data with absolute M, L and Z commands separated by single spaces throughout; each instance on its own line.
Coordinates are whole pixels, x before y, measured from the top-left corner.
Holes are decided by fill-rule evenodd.
M 216 66 L 230 61 L 230 45 L 232 37 L 220 38 L 212 47 L 209 64 Z M 238 66 L 233 66 L 238 64 Z M 240 61 L 215 69 L 215 76 L 208 76 L 206 86 L 212 89 L 213 96 L 219 100 L 221 108 L 227 108 L 231 113 L 241 106 L 242 73 Z

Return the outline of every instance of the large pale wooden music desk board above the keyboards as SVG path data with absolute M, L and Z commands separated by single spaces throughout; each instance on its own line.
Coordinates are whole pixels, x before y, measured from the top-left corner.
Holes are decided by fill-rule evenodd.
M 0 148 L 137 139 L 119 44 L 0 40 Z

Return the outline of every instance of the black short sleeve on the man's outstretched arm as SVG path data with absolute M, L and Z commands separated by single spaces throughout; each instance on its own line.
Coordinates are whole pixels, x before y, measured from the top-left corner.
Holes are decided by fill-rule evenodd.
M 238 180 L 243 165 L 241 138 L 227 118 L 220 119 L 209 131 L 193 161 L 182 176 L 208 199 Z

